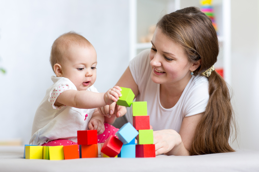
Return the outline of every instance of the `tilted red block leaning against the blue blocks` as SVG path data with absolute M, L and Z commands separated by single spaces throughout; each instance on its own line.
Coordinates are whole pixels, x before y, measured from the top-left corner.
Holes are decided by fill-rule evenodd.
M 118 155 L 122 148 L 122 141 L 111 135 L 105 142 L 101 149 L 101 152 L 108 157 L 115 157 Z

